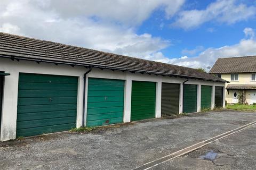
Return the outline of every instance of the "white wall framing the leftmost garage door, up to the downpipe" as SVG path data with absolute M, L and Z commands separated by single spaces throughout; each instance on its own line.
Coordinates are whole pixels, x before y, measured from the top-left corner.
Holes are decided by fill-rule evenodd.
M 70 75 L 78 77 L 77 126 L 82 125 L 83 74 L 87 71 L 85 67 L 73 68 L 70 65 L 55 65 L 50 63 L 37 64 L 36 62 L 18 62 L 7 58 L 0 58 L 0 71 L 11 74 L 6 76 L 4 81 L 1 141 L 16 138 L 19 73 Z

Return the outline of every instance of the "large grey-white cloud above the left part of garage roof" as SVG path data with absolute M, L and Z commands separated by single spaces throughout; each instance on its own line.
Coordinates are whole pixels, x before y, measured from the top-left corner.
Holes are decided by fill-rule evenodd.
M 185 0 L 1 0 L 0 31 L 59 43 L 145 57 L 171 44 L 135 30 L 157 8 L 166 17 Z

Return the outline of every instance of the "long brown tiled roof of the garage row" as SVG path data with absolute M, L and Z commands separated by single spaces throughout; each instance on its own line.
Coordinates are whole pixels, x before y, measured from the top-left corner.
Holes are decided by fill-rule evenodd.
M 226 82 L 196 69 L 0 32 L 0 57 Z

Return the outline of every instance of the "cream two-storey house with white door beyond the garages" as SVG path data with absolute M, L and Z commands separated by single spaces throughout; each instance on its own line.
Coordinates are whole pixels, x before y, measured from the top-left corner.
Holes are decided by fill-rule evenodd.
M 227 103 L 256 103 L 256 56 L 219 58 L 209 73 L 229 81 Z

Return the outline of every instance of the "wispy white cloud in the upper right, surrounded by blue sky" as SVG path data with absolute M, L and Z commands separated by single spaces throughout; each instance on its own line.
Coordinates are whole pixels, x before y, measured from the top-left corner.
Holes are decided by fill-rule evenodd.
M 218 0 L 207 6 L 205 10 L 181 11 L 172 25 L 183 29 L 193 29 L 210 21 L 233 24 L 247 20 L 255 14 L 255 6 L 247 6 L 238 3 L 237 0 Z

